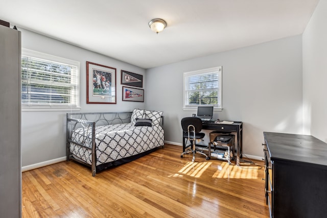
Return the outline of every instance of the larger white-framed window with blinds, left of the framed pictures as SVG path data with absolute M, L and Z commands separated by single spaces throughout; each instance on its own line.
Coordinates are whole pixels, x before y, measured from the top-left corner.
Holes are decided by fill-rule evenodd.
M 21 107 L 78 108 L 79 66 L 77 61 L 23 49 Z

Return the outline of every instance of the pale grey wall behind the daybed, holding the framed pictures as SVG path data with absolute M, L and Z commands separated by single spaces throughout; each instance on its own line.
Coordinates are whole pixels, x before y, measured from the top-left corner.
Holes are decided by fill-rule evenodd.
M 23 48 L 80 62 L 81 112 L 132 111 L 134 108 L 144 108 L 145 103 L 122 101 L 121 69 L 141 75 L 145 75 L 145 69 L 19 27 L 18 30 L 22 32 Z M 117 104 L 86 104 L 86 61 L 116 68 Z M 23 167 L 66 156 L 65 122 L 67 112 L 71 111 L 22 112 L 21 156 Z

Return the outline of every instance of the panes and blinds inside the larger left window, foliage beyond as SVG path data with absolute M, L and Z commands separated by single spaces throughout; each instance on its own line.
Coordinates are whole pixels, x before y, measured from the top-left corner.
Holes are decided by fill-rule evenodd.
M 72 104 L 74 66 L 22 56 L 22 104 Z

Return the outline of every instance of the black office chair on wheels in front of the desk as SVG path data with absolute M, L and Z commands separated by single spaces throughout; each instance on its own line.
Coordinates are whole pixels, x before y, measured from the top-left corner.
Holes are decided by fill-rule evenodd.
M 196 139 L 204 138 L 205 134 L 200 132 L 202 130 L 202 120 L 198 117 L 184 117 L 181 120 L 181 125 L 183 129 L 183 143 L 185 143 L 185 148 L 191 147 L 188 151 L 184 151 L 181 153 L 180 157 L 182 158 L 184 154 L 193 153 L 192 162 L 195 161 L 195 154 L 201 154 L 205 156 L 205 159 L 210 159 L 206 154 L 204 154 L 201 150 L 196 149 Z M 184 142 L 186 139 L 186 142 Z M 186 143 L 190 141 L 191 144 L 186 146 Z

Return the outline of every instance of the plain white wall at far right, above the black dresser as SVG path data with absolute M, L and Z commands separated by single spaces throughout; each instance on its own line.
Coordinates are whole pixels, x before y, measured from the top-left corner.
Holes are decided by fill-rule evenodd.
M 306 134 L 327 142 L 327 1 L 320 0 L 303 33 L 303 121 Z

